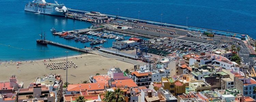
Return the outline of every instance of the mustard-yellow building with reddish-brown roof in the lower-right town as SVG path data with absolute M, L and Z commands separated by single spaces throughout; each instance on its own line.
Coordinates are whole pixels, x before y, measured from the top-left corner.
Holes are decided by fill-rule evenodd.
M 172 77 L 162 77 L 161 78 L 163 89 L 170 90 L 172 95 L 182 95 L 186 91 L 185 83 L 180 80 L 174 81 Z

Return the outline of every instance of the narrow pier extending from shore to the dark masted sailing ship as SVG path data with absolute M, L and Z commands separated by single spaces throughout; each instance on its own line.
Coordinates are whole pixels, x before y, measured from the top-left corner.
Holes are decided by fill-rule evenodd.
M 71 49 L 71 50 L 75 50 L 75 51 L 79 51 L 79 52 L 89 53 L 89 51 L 93 51 L 91 49 L 76 48 L 76 47 L 72 47 L 69 45 L 60 44 L 60 43 L 57 43 L 57 42 L 54 42 L 51 40 L 45 40 L 45 41 L 47 41 L 48 44 L 51 44 L 51 45 L 55 45 L 55 46 L 59 46 L 59 47 L 63 47 L 63 48 L 67 48 L 67 49 Z

